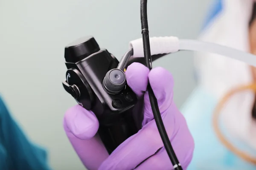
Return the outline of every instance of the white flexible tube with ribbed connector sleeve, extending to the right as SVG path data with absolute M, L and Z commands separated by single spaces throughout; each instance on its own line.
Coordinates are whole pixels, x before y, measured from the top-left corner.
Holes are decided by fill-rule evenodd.
M 175 53 L 179 50 L 200 51 L 238 59 L 256 67 L 256 55 L 223 45 L 198 40 L 179 40 L 177 37 L 150 37 L 149 40 L 151 55 Z M 142 38 L 131 41 L 129 48 L 134 50 L 133 57 L 144 57 Z

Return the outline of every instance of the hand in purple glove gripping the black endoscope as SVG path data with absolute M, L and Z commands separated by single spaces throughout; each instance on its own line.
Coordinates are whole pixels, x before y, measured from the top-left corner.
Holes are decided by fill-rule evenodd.
M 110 156 L 96 134 L 99 122 L 91 111 L 76 105 L 64 116 L 64 129 L 84 166 L 89 170 L 170 170 L 173 167 L 154 121 L 146 91 L 149 80 L 172 147 L 185 170 L 192 159 L 194 140 L 186 120 L 173 102 L 172 75 L 160 67 L 149 71 L 140 63 L 128 66 L 125 74 L 128 85 L 137 96 L 144 96 L 143 128 Z

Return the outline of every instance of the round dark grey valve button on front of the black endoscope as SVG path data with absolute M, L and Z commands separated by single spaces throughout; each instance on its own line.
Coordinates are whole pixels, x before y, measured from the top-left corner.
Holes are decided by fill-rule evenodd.
M 118 68 L 108 71 L 102 85 L 109 94 L 118 94 L 126 85 L 125 72 Z

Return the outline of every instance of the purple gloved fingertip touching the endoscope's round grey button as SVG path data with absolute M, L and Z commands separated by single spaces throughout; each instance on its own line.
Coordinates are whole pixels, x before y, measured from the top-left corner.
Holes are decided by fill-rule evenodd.
M 149 69 L 145 65 L 134 62 L 125 71 L 128 86 L 138 96 L 144 94 L 148 85 Z

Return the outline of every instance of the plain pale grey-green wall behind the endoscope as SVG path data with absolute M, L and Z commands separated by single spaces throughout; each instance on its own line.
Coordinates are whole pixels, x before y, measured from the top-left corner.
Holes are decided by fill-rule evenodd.
M 209 1 L 148 2 L 150 36 L 196 38 Z M 0 93 L 29 138 L 47 147 L 55 170 L 84 169 L 62 129 L 65 111 L 76 102 L 61 81 L 64 46 L 85 35 L 120 59 L 128 42 L 141 37 L 140 1 L 0 0 Z M 172 72 L 178 106 L 195 86 L 192 55 L 154 62 Z

